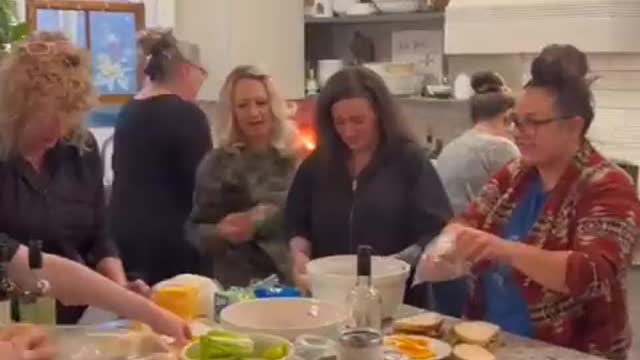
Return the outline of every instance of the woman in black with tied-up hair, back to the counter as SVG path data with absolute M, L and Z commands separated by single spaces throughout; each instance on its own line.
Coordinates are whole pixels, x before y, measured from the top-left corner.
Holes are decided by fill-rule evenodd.
M 147 30 L 138 43 L 147 81 L 116 126 L 111 233 L 128 272 L 154 284 L 199 269 L 184 225 L 196 168 L 211 149 L 206 115 L 193 103 L 207 72 L 197 47 L 170 31 Z

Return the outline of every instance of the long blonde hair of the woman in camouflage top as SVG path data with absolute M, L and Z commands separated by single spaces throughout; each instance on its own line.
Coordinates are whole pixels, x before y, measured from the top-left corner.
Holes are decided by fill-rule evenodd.
M 220 106 L 218 116 L 213 126 L 213 137 L 216 147 L 233 147 L 244 144 L 242 135 L 234 119 L 233 93 L 238 81 L 252 79 L 260 81 L 269 99 L 269 107 L 273 117 L 271 145 L 280 154 L 296 155 L 300 146 L 298 142 L 298 128 L 287 115 L 287 105 L 278 93 L 273 81 L 265 73 L 253 66 L 238 66 L 227 76 L 220 92 Z

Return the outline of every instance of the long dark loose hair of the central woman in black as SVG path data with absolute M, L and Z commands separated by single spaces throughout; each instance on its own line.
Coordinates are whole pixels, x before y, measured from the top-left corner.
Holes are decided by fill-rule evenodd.
M 349 153 L 347 145 L 336 131 L 331 109 L 337 102 L 353 98 L 367 99 L 377 115 L 380 129 L 379 146 L 413 141 L 384 80 L 365 67 L 347 67 L 327 81 L 318 97 L 318 151 L 325 160 L 343 160 Z

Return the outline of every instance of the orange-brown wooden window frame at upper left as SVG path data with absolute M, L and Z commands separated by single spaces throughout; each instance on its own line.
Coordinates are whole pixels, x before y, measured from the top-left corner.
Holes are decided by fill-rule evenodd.
M 91 12 L 131 13 L 134 16 L 136 32 L 145 28 L 145 4 L 143 2 L 111 2 L 97 0 L 27 0 L 26 16 L 29 30 L 38 31 L 38 10 L 73 10 L 83 11 L 86 19 L 87 48 L 91 51 Z M 144 81 L 144 59 L 138 54 L 138 90 Z M 100 95 L 103 105 L 121 105 L 133 98 L 134 94 Z

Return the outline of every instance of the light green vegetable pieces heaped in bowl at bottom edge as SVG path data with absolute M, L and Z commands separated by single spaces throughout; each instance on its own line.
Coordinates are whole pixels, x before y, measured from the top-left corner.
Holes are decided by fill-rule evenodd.
M 253 340 L 246 336 L 212 331 L 200 337 L 200 360 L 243 358 L 253 352 Z

